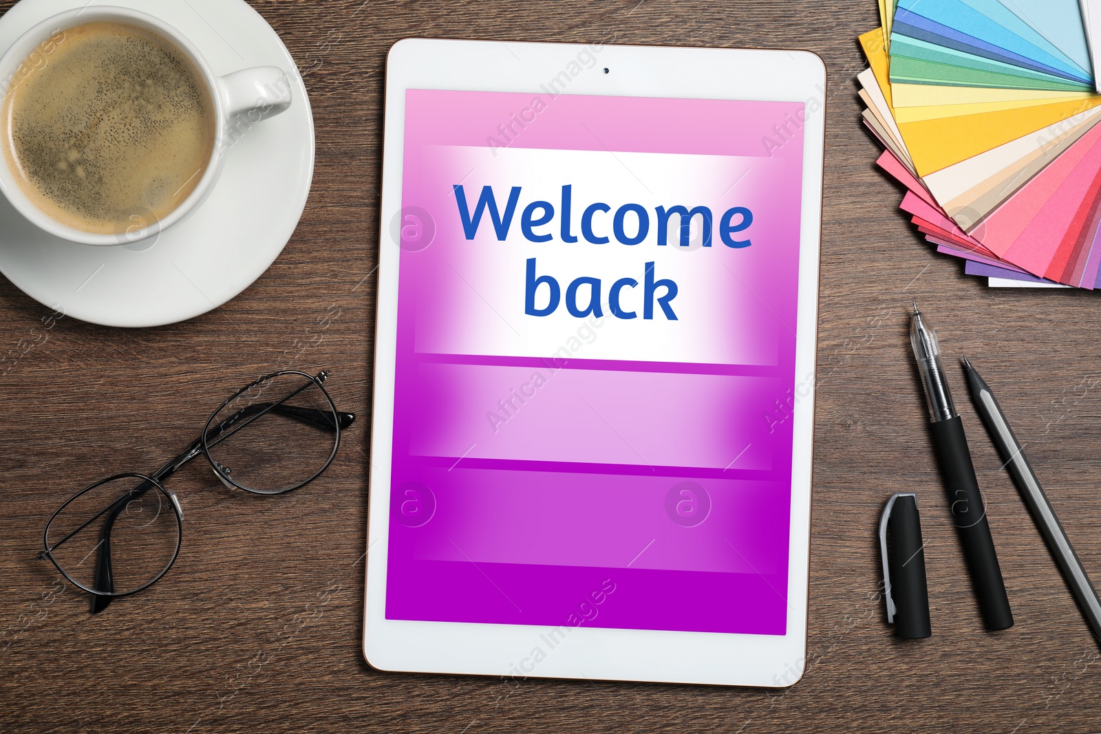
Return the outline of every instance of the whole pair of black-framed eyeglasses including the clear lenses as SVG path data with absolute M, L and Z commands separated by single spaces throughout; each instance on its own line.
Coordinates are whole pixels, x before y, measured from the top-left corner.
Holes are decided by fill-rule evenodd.
M 74 494 L 46 523 L 39 560 L 90 593 L 92 614 L 149 589 L 179 555 L 184 512 L 164 481 L 188 461 L 201 453 L 222 484 L 253 494 L 297 490 L 328 469 L 356 415 L 337 412 L 327 377 L 288 370 L 249 383 L 152 474 L 116 474 Z

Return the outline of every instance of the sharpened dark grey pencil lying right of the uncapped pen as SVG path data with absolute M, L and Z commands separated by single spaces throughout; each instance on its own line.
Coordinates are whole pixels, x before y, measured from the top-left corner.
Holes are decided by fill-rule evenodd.
M 1073 592 L 1078 606 L 1082 611 L 1082 616 L 1089 623 L 1093 637 L 1101 643 L 1101 601 L 1098 600 L 1097 591 L 1090 583 L 1090 578 L 1086 576 L 1082 562 L 1078 560 L 1075 549 L 1067 539 L 1059 518 L 1055 516 L 1051 504 L 1044 494 L 1044 489 L 1039 485 L 1036 474 L 1033 472 L 1028 460 L 1024 454 L 1024 447 L 1017 441 L 1010 428 L 1010 421 L 1005 419 L 1002 407 L 994 399 L 994 393 L 990 385 L 979 375 L 979 372 L 971 366 L 964 358 L 963 369 L 967 372 L 968 386 L 971 388 L 971 399 L 974 401 L 974 408 L 986 425 L 990 438 L 998 448 L 998 453 L 1005 461 L 1013 482 L 1021 491 L 1021 496 L 1028 505 L 1028 512 L 1036 521 L 1036 527 L 1047 541 L 1047 547 L 1055 557 L 1055 562 L 1059 565 L 1062 577 L 1067 580 L 1067 585 Z

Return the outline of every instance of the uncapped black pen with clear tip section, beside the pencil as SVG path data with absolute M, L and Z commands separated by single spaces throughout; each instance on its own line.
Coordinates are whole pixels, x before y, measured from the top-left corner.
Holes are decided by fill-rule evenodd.
M 963 423 L 952 394 L 945 381 L 945 369 L 940 364 L 940 346 L 937 333 L 925 324 L 922 311 L 914 304 L 914 315 L 909 326 L 909 339 L 922 373 L 925 397 L 933 420 L 933 442 L 937 450 L 937 463 L 948 491 L 948 504 L 952 521 L 963 546 L 963 559 L 971 576 L 971 585 L 979 600 L 986 629 L 1005 629 L 1013 626 L 1013 612 L 1005 595 L 1002 569 L 998 565 L 994 540 L 990 537 L 986 508 L 974 478 L 971 452 L 967 446 Z

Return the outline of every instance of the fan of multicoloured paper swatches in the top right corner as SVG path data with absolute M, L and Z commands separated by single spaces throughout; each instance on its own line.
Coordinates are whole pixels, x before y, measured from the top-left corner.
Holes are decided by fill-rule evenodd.
M 1095 7 L 1095 8 L 1094 8 Z M 902 208 L 999 286 L 1101 286 L 1093 0 L 880 0 L 864 123 Z

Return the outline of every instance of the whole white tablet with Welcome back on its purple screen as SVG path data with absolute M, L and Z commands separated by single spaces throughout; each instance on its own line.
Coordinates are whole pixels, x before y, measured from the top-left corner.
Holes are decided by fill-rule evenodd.
M 391 48 L 373 667 L 802 676 L 825 85 L 803 52 Z

